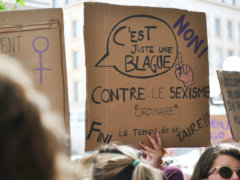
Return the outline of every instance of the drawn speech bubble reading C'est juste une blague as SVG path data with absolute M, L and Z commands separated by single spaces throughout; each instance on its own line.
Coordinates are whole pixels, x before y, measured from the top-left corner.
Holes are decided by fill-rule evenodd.
M 151 78 L 172 69 L 177 52 L 176 36 L 167 22 L 151 15 L 133 15 L 112 28 L 106 54 L 95 67 L 113 67 L 128 77 Z

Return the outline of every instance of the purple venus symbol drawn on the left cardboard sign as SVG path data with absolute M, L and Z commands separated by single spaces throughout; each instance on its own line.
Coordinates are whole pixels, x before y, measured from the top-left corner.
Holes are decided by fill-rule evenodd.
M 39 50 L 39 49 L 36 48 L 35 42 L 38 39 L 45 39 L 46 40 L 47 47 L 45 49 Z M 38 36 L 38 37 L 34 38 L 32 46 L 33 46 L 34 51 L 36 51 L 39 54 L 40 68 L 34 69 L 34 71 L 40 71 L 40 83 L 42 84 L 42 82 L 43 82 L 43 71 L 44 70 L 52 70 L 52 69 L 49 69 L 49 68 L 43 68 L 43 65 L 42 65 L 42 54 L 48 50 L 48 48 L 49 48 L 49 41 L 48 41 L 47 37 L 45 37 L 45 36 Z

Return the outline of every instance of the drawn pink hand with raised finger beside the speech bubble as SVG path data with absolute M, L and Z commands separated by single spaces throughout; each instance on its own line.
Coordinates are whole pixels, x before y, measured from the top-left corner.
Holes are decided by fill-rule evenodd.
M 178 53 L 178 64 L 176 64 L 175 73 L 177 79 L 182 81 L 185 87 L 193 85 L 192 68 L 187 64 L 183 64 L 180 52 Z

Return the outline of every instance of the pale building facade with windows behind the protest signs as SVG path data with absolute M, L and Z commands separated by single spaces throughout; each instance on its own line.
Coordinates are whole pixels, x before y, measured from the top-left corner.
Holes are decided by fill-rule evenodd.
M 210 91 L 210 114 L 225 114 L 220 100 L 216 69 L 222 69 L 229 56 L 240 57 L 240 0 L 88 0 L 120 5 L 179 8 L 205 12 L 207 18 Z M 64 10 L 68 93 L 71 112 L 72 150 L 84 152 L 86 69 L 83 38 L 82 0 L 26 0 L 25 9 L 59 8 Z M 23 9 L 22 7 L 19 7 Z M 93 12 L 94 13 L 94 12 Z M 234 64 L 233 64 L 234 66 Z M 222 102 L 221 102 L 222 103 Z

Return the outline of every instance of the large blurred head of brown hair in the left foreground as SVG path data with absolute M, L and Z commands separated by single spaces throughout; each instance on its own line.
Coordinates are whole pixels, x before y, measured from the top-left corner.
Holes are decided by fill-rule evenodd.
M 64 154 L 66 139 L 48 100 L 23 67 L 0 57 L 0 179 L 61 180 L 78 177 Z

